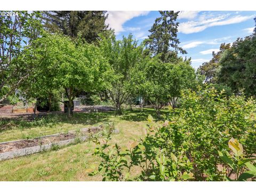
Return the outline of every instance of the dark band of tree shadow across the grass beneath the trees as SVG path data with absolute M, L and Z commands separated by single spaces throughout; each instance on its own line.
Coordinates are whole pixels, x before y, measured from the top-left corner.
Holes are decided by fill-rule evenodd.
M 167 110 L 162 110 L 161 115 L 167 115 Z M 123 115 L 116 116 L 121 120 L 141 122 L 146 121 L 148 115 L 153 116 L 155 121 L 162 121 L 164 118 L 157 117 L 156 111 L 152 108 L 144 108 L 124 110 Z M 109 122 L 110 118 L 115 116 L 115 111 L 104 111 L 104 112 L 74 112 L 70 118 L 66 114 L 60 111 L 53 113 L 40 113 L 37 114 L 36 118 L 33 118 L 33 114 L 18 115 L 16 117 L 0 118 L 0 133 L 3 131 L 18 128 L 20 130 L 29 129 L 31 127 L 39 126 L 53 126 L 67 124 L 83 124 L 83 125 L 94 125 L 100 122 Z

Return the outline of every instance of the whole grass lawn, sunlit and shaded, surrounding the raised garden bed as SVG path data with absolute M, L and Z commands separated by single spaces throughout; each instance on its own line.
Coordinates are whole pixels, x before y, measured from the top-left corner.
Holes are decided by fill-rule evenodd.
M 163 111 L 166 114 L 167 111 Z M 38 119 L 35 122 L 16 122 L 16 126 L 0 132 L 2 141 L 24 139 L 24 135 L 37 137 L 44 134 L 59 133 L 65 130 L 76 130 L 86 126 L 114 122 L 119 134 L 113 134 L 111 142 L 126 148 L 129 142 L 139 139 L 146 134 L 146 118 L 151 114 L 156 118 L 153 109 L 143 111 L 124 111 L 124 115 L 115 116 L 114 112 L 106 113 L 76 113 L 67 119 L 65 115 L 51 116 Z M 8 123 L 8 122 L 5 122 Z M 12 122 L 12 124 L 15 122 Z M 9 122 L 10 124 L 10 122 Z M 6 124 L 2 125 L 5 126 Z M 20 125 L 20 126 L 19 126 Z M 67 146 L 59 150 L 47 151 L 7 161 L 0 162 L 1 181 L 98 181 L 99 175 L 88 176 L 87 169 L 99 164 L 99 159 L 92 156 L 95 145 L 91 141 Z M 136 174 L 134 170 L 134 174 Z

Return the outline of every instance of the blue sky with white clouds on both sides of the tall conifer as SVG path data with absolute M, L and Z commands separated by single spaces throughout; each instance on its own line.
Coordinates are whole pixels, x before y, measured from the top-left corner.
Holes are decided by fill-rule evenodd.
M 149 35 L 148 30 L 158 11 L 109 11 L 106 23 L 115 29 L 118 39 L 132 33 L 141 42 Z M 221 43 L 232 43 L 238 37 L 252 34 L 256 11 L 181 11 L 178 17 L 180 46 L 191 57 L 192 66 L 198 68 L 212 58 Z

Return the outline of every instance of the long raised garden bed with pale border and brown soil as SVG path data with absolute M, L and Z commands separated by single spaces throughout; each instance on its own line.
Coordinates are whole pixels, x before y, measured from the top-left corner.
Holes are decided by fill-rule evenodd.
M 102 129 L 103 125 L 84 128 L 79 133 L 69 131 L 34 139 L 2 142 L 0 143 L 0 161 L 49 150 L 53 145 L 65 146 L 75 142 L 76 139 L 85 141 L 90 137 L 90 133 L 97 133 Z

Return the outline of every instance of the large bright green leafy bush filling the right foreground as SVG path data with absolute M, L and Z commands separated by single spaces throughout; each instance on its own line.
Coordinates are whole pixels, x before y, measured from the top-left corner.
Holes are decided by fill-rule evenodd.
M 218 151 L 229 151 L 230 138 L 242 143 L 244 157 L 255 156 L 255 109 L 252 98 L 227 98 L 225 91 L 210 87 L 187 90 L 182 93 L 181 108 L 170 111 L 163 126 L 148 117 L 147 136 L 130 149 L 122 151 L 117 144 L 111 148 L 108 140 L 95 140 L 99 147 L 94 155 L 102 162 L 92 174 L 102 174 L 105 180 L 222 181 L 218 166 L 223 158 Z M 132 167 L 139 167 L 141 173 L 131 177 Z

